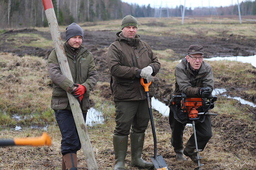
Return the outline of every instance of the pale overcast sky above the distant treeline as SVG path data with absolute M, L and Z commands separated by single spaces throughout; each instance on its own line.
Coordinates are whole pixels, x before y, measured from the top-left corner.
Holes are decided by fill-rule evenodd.
M 162 7 L 175 8 L 176 6 L 184 5 L 184 0 L 122 0 L 122 2 L 126 3 L 137 3 L 139 5 L 150 6 L 152 8 L 159 8 L 162 4 Z M 241 3 L 242 0 L 239 0 Z M 186 7 L 209 7 L 209 6 L 230 6 L 237 4 L 237 0 L 186 0 Z

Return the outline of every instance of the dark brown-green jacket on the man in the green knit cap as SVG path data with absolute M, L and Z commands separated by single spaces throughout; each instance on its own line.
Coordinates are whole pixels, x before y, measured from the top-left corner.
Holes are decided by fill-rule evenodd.
M 150 65 L 155 76 L 160 63 L 150 46 L 136 35 L 134 39 L 125 38 L 122 32 L 116 33 L 116 41 L 108 48 L 108 68 L 111 73 L 113 101 L 133 101 L 146 99 L 140 85 L 141 69 Z M 149 95 L 154 95 L 153 85 L 149 86 Z

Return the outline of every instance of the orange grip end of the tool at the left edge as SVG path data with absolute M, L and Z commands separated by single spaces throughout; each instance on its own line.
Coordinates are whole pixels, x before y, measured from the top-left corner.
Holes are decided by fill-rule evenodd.
M 51 138 L 47 133 L 43 133 L 40 137 L 30 137 L 30 138 L 15 138 L 13 139 L 15 145 L 31 145 L 31 146 L 43 146 L 51 145 Z

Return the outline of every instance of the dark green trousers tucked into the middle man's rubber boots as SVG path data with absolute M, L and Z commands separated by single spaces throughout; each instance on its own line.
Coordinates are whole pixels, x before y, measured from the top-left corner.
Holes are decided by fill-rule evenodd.
M 149 122 L 147 100 L 115 102 L 116 127 L 114 135 L 127 136 L 130 129 L 134 133 L 145 133 Z

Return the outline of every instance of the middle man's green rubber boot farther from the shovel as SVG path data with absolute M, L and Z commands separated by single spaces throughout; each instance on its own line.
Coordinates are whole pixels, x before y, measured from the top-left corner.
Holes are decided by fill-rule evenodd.
M 125 157 L 127 153 L 128 136 L 113 135 L 113 146 L 115 151 L 114 170 L 125 170 Z

